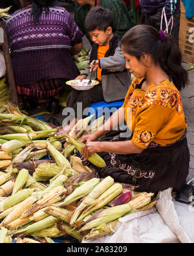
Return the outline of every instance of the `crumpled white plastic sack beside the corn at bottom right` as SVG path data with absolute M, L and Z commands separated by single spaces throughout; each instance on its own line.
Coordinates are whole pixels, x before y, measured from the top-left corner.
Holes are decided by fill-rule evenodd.
M 157 211 L 156 211 L 157 209 Z M 191 242 L 180 226 L 171 198 L 171 189 L 158 193 L 158 202 L 149 211 L 120 218 L 111 235 L 83 240 L 83 243 L 178 243 Z

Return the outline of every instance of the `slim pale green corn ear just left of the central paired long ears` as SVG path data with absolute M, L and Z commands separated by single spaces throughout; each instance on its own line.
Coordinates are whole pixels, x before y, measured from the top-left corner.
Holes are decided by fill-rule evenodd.
M 91 192 L 99 182 L 100 179 L 98 178 L 92 178 L 91 180 L 86 181 L 83 185 L 76 188 L 69 196 L 67 196 L 67 198 L 65 198 L 63 202 L 59 203 L 57 206 L 67 205 L 80 198 L 83 198 L 84 196 L 87 196 L 87 194 L 89 194 L 89 192 Z

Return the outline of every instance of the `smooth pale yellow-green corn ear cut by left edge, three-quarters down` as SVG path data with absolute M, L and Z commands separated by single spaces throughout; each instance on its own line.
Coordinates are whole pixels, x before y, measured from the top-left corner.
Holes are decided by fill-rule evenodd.
M 33 191 L 34 189 L 23 189 L 8 197 L 5 201 L 0 202 L 0 213 L 25 200 L 28 196 L 31 196 Z

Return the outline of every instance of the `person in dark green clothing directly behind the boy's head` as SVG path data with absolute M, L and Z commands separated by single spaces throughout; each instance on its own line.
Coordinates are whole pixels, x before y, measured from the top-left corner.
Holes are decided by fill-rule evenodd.
M 76 10 L 74 19 L 83 32 L 86 34 L 88 40 L 91 42 L 89 34 L 85 31 L 84 23 L 85 17 L 94 6 L 101 6 L 103 8 L 110 9 L 113 12 L 114 24 L 113 24 L 113 33 L 121 39 L 124 36 L 125 32 L 131 27 L 135 26 L 135 22 L 129 16 L 127 7 L 121 0 L 73 0 L 78 3 L 80 8 Z

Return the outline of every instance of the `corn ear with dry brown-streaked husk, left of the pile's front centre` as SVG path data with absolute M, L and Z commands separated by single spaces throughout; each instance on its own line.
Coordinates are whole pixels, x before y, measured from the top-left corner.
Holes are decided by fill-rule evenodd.
M 36 204 L 32 205 L 27 211 L 25 211 L 21 218 L 27 218 L 27 216 L 32 215 L 39 209 L 46 207 L 48 205 L 59 202 L 63 198 L 65 198 L 67 190 L 63 186 L 58 186 L 45 194 Z

